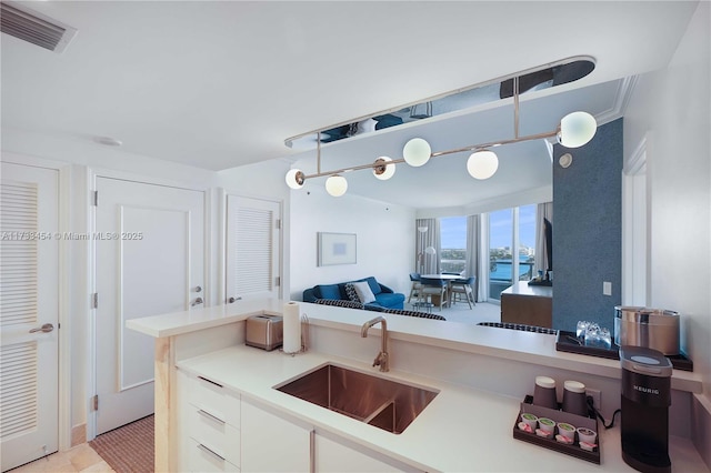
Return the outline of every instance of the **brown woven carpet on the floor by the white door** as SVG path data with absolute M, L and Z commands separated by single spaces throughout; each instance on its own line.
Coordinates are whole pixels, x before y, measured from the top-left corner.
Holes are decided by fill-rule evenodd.
M 89 445 L 117 473 L 153 472 L 153 416 L 97 436 Z

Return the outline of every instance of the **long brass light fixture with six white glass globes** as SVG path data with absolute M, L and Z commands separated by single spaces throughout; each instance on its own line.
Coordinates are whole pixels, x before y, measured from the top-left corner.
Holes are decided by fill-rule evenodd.
M 499 158 L 493 151 L 490 150 L 490 148 L 519 143 L 522 141 L 548 139 L 557 139 L 558 142 L 565 148 L 580 148 L 592 140 L 595 131 L 598 130 L 598 123 L 594 117 L 592 117 L 590 113 L 580 111 L 572 112 L 563 117 L 560 121 L 560 124 L 553 131 L 529 134 L 524 137 L 519 135 L 519 76 L 517 74 L 512 79 L 514 130 L 513 138 L 437 152 L 432 152 L 432 148 L 430 147 L 430 143 L 427 142 L 427 140 L 422 138 L 413 138 L 404 144 L 401 159 L 380 157 L 374 162 L 369 164 L 361 164 L 352 168 L 321 172 L 321 130 L 318 130 L 316 131 L 318 145 L 317 172 L 314 174 L 307 175 L 301 170 L 291 169 L 286 177 L 287 184 L 291 189 L 301 189 L 307 179 L 328 175 L 329 178 L 326 182 L 326 190 L 331 195 L 340 197 L 343 195 L 348 189 L 348 182 L 346 181 L 346 178 L 340 175 L 343 172 L 370 169 L 372 170 L 372 173 L 373 175 L 375 175 L 375 178 L 380 180 L 388 180 L 394 174 L 395 164 L 404 162 L 413 168 L 419 168 L 427 164 L 431 158 L 462 152 L 471 152 L 471 155 L 467 160 L 467 171 L 469 172 L 469 174 L 474 179 L 484 180 L 491 178 L 499 169 Z

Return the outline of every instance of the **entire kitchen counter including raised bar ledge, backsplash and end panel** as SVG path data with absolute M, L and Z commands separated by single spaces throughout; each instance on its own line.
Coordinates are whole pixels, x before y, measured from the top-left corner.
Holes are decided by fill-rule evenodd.
M 170 406 L 176 402 L 177 369 L 212 379 L 244 397 L 417 469 L 631 471 L 621 459 L 619 426 L 601 432 L 602 465 L 512 434 L 520 394 L 530 393 L 531 376 L 557 373 L 561 383 L 571 379 L 562 376 L 580 376 L 583 382 L 592 376 L 589 385 L 603 394 L 619 393 L 619 361 L 558 352 L 554 335 L 387 314 L 392 371 L 384 376 L 440 391 L 402 434 L 394 435 L 272 389 L 327 361 L 381 375 L 369 363 L 380 343 L 379 328 L 371 329 L 368 339 L 360 336 L 361 325 L 379 314 L 301 303 L 301 313 L 310 322 L 310 352 L 289 356 L 246 346 L 243 321 L 256 314 L 281 314 L 283 303 L 238 301 L 127 322 L 129 329 L 156 338 L 157 471 L 174 466 L 170 452 L 178 447 L 171 436 L 176 411 Z M 672 389 L 687 395 L 700 393 L 702 383 L 697 373 L 674 370 Z M 603 395 L 609 419 L 613 409 L 604 409 L 605 396 L 608 402 L 615 396 Z M 675 471 L 708 471 L 690 440 L 672 435 L 670 449 Z

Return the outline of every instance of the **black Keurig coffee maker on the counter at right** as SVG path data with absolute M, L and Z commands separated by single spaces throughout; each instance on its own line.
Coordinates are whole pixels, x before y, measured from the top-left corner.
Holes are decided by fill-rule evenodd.
M 644 473 L 671 472 L 671 362 L 657 350 L 630 345 L 620 348 L 620 362 L 622 460 Z

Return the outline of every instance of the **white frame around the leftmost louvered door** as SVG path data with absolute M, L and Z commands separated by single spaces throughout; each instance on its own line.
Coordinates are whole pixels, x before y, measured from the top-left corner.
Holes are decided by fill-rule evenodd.
M 58 195 L 57 195 L 57 210 L 58 210 L 58 232 L 64 233 L 70 231 L 70 204 L 71 204 L 71 188 L 72 175 L 71 165 L 61 161 L 48 160 L 43 158 L 31 157 L 27 154 L 19 154 L 13 152 L 2 152 L 2 162 L 26 165 L 29 168 L 43 168 L 58 172 Z M 63 275 L 69 273 L 69 261 L 71 254 L 69 253 L 69 244 L 66 240 L 59 241 L 59 265 L 58 265 L 58 321 L 59 333 L 58 340 L 58 432 L 57 441 L 59 451 L 63 452 L 71 449 L 71 308 L 69 306 L 71 298 L 71 285 L 69 278 Z

